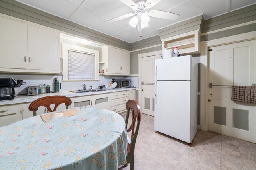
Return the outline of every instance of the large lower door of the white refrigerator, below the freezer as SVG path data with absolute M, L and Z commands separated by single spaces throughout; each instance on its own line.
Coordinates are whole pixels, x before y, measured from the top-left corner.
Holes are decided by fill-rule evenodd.
M 155 130 L 190 143 L 190 82 L 157 81 Z

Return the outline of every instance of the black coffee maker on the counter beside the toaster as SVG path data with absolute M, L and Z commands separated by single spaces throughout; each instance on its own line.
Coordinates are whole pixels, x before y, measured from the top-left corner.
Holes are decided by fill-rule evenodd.
M 14 99 L 14 84 L 17 84 L 13 78 L 0 78 L 0 100 Z

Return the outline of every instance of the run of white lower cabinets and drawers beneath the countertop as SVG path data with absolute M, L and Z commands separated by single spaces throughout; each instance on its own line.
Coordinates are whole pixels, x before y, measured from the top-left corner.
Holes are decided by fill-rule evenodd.
M 72 103 L 68 107 L 69 109 L 74 109 L 77 107 L 92 107 L 122 113 L 126 111 L 126 102 L 128 100 L 135 99 L 135 90 L 112 92 L 92 96 L 80 96 L 70 99 Z M 33 117 L 33 112 L 28 109 L 29 105 L 30 103 L 0 106 L 0 127 Z M 51 109 L 54 109 L 54 104 L 52 104 L 50 107 Z M 65 104 L 60 104 L 56 109 L 56 111 L 62 110 L 66 110 Z M 38 107 L 36 114 L 42 115 L 44 113 L 49 113 L 46 107 Z

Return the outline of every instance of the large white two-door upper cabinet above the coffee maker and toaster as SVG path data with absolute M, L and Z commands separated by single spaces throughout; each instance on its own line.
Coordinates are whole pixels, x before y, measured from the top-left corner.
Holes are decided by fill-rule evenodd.
M 60 73 L 59 33 L 0 16 L 0 72 Z

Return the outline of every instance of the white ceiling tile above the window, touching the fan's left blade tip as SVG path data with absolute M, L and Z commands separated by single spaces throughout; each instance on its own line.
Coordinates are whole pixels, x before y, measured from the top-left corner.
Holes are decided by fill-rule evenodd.
M 74 14 L 70 17 L 70 21 L 86 25 L 86 27 L 96 29 L 108 35 L 112 35 L 113 33 L 122 31 L 121 27 L 114 25 L 113 23 L 105 23 L 104 19 L 95 16 L 94 14 L 82 7 L 78 8 L 78 10 L 74 12 Z

